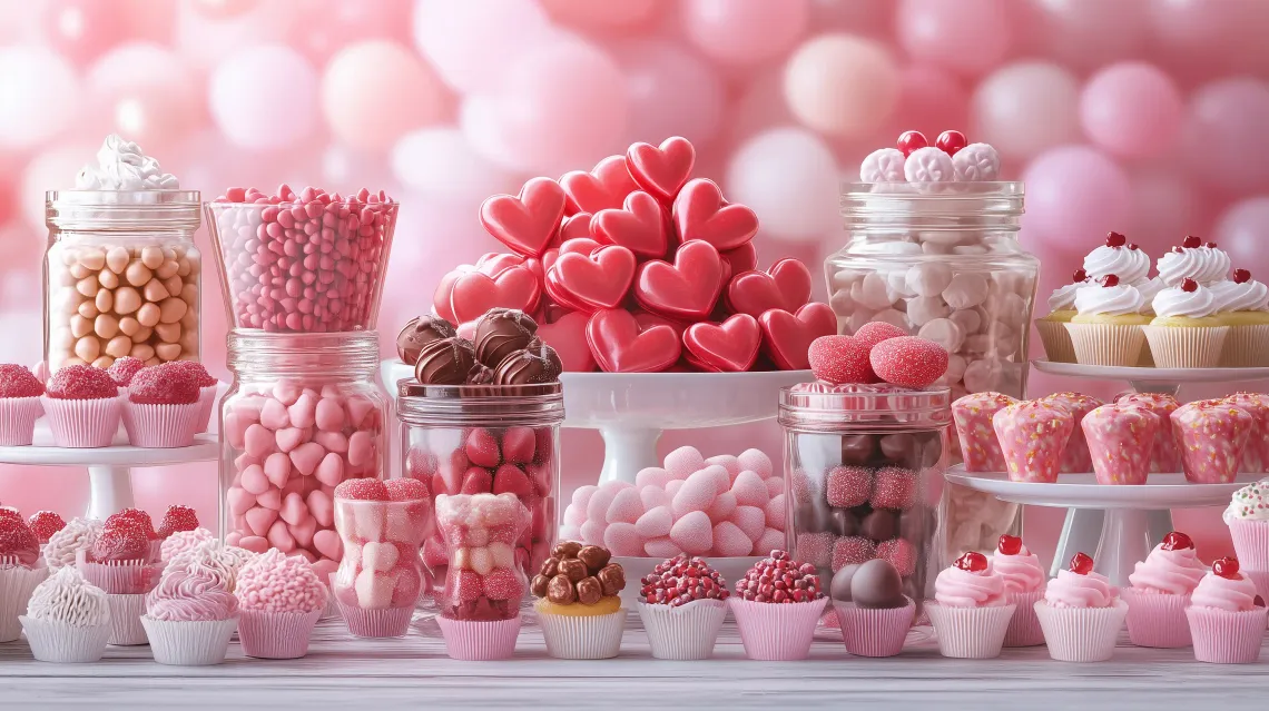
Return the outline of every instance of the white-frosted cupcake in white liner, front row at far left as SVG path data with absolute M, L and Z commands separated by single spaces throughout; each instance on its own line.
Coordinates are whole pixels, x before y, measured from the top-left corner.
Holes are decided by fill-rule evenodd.
M 70 567 L 36 586 L 20 620 L 30 653 L 39 662 L 98 662 L 110 640 L 105 591 Z

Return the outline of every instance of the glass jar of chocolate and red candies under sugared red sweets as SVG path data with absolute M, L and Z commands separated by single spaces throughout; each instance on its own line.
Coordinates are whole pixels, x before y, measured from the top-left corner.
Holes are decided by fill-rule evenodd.
M 803 384 L 780 390 L 788 550 L 820 568 L 884 558 L 921 601 L 948 560 L 940 512 L 949 390 Z

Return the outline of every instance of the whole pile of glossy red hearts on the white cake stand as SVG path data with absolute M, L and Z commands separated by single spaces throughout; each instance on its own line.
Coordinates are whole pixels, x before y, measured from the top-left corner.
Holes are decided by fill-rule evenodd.
M 490 198 L 481 222 L 513 253 L 447 274 L 435 312 L 461 324 L 494 307 L 530 313 L 570 371 L 807 368 L 811 341 L 836 332 L 832 309 L 810 303 L 802 262 L 756 270 L 758 217 L 692 179 L 694 162 L 684 138 L 636 143 Z

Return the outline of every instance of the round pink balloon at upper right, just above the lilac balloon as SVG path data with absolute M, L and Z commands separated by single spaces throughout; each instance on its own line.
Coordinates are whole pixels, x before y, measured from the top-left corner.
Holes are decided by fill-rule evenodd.
M 1180 90 L 1145 62 L 1105 67 L 1089 79 L 1080 96 L 1084 132 L 1117 156 L 1141 158 L 1169 151 L 1180 119 Z

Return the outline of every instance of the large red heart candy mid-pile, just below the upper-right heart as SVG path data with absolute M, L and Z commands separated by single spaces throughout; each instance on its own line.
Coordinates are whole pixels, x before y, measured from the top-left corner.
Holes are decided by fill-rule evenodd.
M 708 242 L 684 242 L 673 265 L 661 260 L 640 265 L 634 299 L 652 313 L 700 321 L 713 311 L 722 285 L 718 250 Z

